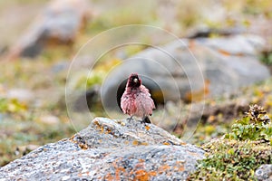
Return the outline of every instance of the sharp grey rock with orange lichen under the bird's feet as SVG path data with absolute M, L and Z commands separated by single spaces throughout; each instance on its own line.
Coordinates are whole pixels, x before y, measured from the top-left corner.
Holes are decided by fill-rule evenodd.
M 134 119 L 96 118 L 0 168 L 0 180 L 184 180 L 204 151 Z

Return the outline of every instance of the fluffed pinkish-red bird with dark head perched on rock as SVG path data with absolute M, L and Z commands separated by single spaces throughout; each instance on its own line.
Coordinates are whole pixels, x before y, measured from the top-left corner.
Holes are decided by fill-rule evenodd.
M 138 73 L 131 73 L 125 91 L 121 96 L 121 110 L 128 114 L 141 118 L 141 122 L 151 123 L 149 116 L 155 109 L 154 101 L 151 98 L 150 90 L 141 84 Z

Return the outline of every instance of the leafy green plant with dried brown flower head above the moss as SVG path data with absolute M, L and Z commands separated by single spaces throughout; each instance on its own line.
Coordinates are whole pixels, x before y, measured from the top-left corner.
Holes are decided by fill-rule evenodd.
M 246 117 L 238 119 L 225 138 L 238 140 L 265 140 L 272 143 L 272 125 L 267 111 L 262 107 L 250 106 Z

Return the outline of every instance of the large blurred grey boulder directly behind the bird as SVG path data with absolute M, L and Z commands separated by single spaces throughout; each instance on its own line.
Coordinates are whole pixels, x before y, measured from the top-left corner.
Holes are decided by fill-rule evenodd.
M 198 100 L 204 94 L 233 92 L 269 77 L 267 67 L 257 58 L 263 45 L 258 36 L 233 35 L 181 39 L 149 48 L 109 73 L 103 82 L 102 101 L 106 108 L 117 108 L 119 100 L 112 95 L 131 72 L 141 74 L 143 84 L 157 100 Z

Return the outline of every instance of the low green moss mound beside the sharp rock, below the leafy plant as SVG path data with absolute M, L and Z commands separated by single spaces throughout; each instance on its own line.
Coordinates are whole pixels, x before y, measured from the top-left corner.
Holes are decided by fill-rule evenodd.
M 272 147 L 263 141 L 218 139 L 202 146 L 207 158 L 189 180 L 255 180 L 254 171 L 271 164 Z

